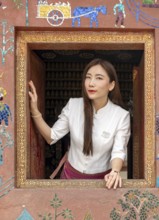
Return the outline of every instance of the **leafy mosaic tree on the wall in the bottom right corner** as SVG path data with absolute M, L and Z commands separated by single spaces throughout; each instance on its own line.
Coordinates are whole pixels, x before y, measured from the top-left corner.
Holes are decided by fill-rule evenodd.
M 159 219 L 159 199 L 148 191 L 129 190 L 118 201 L 120 208 L 113 208 L 110 217 L 117 219 Z

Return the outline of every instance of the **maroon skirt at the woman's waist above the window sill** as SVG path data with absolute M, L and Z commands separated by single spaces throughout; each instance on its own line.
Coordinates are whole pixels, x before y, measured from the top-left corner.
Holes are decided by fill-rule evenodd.
M 104 179 L 104 176 L 110 173 L 110 171 L 111 169 L 102 173 L 95 174 L 81 173 L 78 170 L 74 169 L 71 164 L 66 161 L 61 172 L 60 179 Z

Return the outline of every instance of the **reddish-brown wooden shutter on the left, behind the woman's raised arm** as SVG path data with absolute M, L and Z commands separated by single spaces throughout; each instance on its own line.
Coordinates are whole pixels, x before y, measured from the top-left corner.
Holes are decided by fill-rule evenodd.
M 29 79 L 34 82 L 38 94 L 38 107 L 44 117 L 45 113 L 45 64 L 37 57 L 37 55 L 30 51 L 29 61 Z M 33 120 L 28 115 L 28 123 L 30 131 L 28 132 L 30 146 L 28 146 L 28 171 L 27 178 L 44 179 L 45 178 L 45 141 L 37 131 Z M 29 127 L 28 126 L 28 127 Z

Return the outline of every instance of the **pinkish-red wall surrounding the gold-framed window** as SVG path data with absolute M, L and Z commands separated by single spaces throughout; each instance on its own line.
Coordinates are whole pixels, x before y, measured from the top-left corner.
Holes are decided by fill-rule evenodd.
M 134 218 L 129 219 L 152 219 L 152 216 L 156 216 L 159 213 L 158 209 L 158 186 L 159 186 L 159 135 L 156 134 L 156 160 L 154 159 L 154 165 L 156 164 L 156 187 L 148 189 L 130 189 L 122 188 L 118 190 L 107 189 L 82 189 L 82 188 L 68 188 L 68 189 L 17 189 L 15 186 L 15 170 L 16 170 L 16 132 L 15 132 L 15 57 L 16 53 L 14 49 L 14 29 L 13 27 L 25 27 L 26 30 L 29 27 L 37 29 L 38 27 L 50 27 L 52 30 L 60 28 L 61 30 L 69 27 L 73 30 L 72 19 L 64 19 L 62 24 L 57 26 L 51 26 L 45 18 L 37 18 L 38 1 L 0 1 L 0 88 L 6 90 L 7 94 L 4 96 L 3 102 L 7 104 L 12 113 L 12 117 L 9 117 L 9 124 L 6 127 L 4 121 L 0 127 L 0 140 L 1 149 L 3 149 L 3 158 L 0 164 L 0 219 L 12 220 L 12 219 L 44 219 L 44 215 L 51 213 L 52 217 L 55 214 L 56 208 L 50 205 L 50 201 L 55 197 L 62 200 L 62 203 L 57 209 L 57 213 L 65 210 L 64 214 L 68 214 L 68 219 L 76 220 L 82 219 L 118 219 L 118 216 L 123 216 L 125 211 L 122 210 L 121 203 L 126 204 L 126 198 L 128 199 L 128 205 L 135 207 L 135 204 L 139 204 L 140 208 L 144 206 L 143 201 L 147 201 L 147 211 L 142 210 L 136 205 L 134 210 L 136 215 L 131 213 Z M 138 2 L 140 7 L 138 8 Z M 48 0 L 48 4 L 56 3 L 52 0 Z M 58 1 L 57 1 L 58 3 Z M 67 4 L 67 1 L 65 1 Z M 73 1 L 70 0 L 71 12 L 75 7 L 92 6 L 97 7 L 99 5 L 106 6 L 107 14 L 99 13 L 97 16 L 98 28 L 112 29 L 115 27 L 115 15 L 113 13 L 113 7 L 119 3 L 118 0 L 98 0 L 98 1 Z M 159 2 L 156 5 L 149 5 L 149 7 L 143 7 L 142 1 L 125 0 L 123 2 L 125 6 L 126 18 L 124 20 L 125 29 L 142 30 L 151 29 L 155 32 L 155 73 L 156 73 L 156 122 L 157 115 L 159 115 L 159 99 L 157 94 L 159 93 Z M 150 7 L 151 6 L 151 7 Z M 138 11 L 140 13 L 138 13 Z M 77 23 L 76 23 L 77 26 Z M 88 18 L 81 18 L 81 28 L 91 29 L 90 20 Z M 95 27 L 95 23 L 93 23 Z M 118 24 L 118 28 L 120 24 Z M 9 40 L 6 44 L 4 40 Z M 4 93 L 3 90 L 3 93 Z M 12 119 L 12 120 L 11 120 Z M 156 123 L 157 124 L 157 123 Z M 159 129 L 159 123 L 157 128 Z M 4 147 L 5 146 L 5 147 Z M 57 197 L 55 196 L 57 195 Z M 143 200 L 145 198 L 145 200 Z M 151 200 L 152 199 L 152 200 Z M 55 203 L 55 200 L 53 204 Z M 135 202 L 133 204 L 133 202 Z M 151 206 L 152 205 L 152 206 Z M 156 206 L 156 210 L 155 210 Z M 69 209 L 70 212 L 66 209 Z M 118 211 L 116 211 L 118 209 Z M 130 207 L 127 206 L 127 210 L 130 213 Z M 139 213 L 143 214 L 143 218 L 139 217 Z M 41 214 L 43 217 L 39 217 Z M 49 219 L 49 218 L 47 218 Z M 64 219 L 62 214 L 54 216 L 53 219 Z M 123 218 L 124 219 L 124 218 Z

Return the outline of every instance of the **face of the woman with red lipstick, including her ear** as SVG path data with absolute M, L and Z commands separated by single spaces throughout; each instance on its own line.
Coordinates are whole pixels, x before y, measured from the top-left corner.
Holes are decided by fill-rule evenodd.
M 92 101 L 107 101 L 108 93 L 114 86 L 115 82 L 110 82 L 107 72 L 101 65 L 95 65 L 87 71 L 85 89 Z

